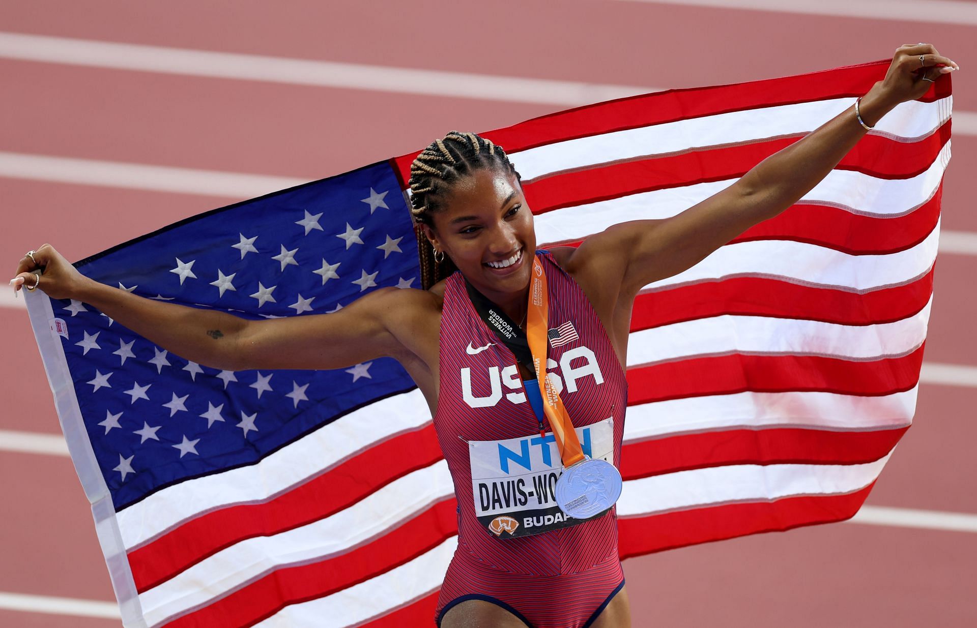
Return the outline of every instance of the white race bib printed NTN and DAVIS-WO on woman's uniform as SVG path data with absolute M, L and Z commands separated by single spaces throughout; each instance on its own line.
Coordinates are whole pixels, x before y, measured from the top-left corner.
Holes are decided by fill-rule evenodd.
M 613 417 L 575 431 L 583 453 L 614 464 Z M 557 506 L 563 463 L 552 432 L 468 444 L 475 514 L 495 536 L 528 536 L 589 521 L 567 517 Z

